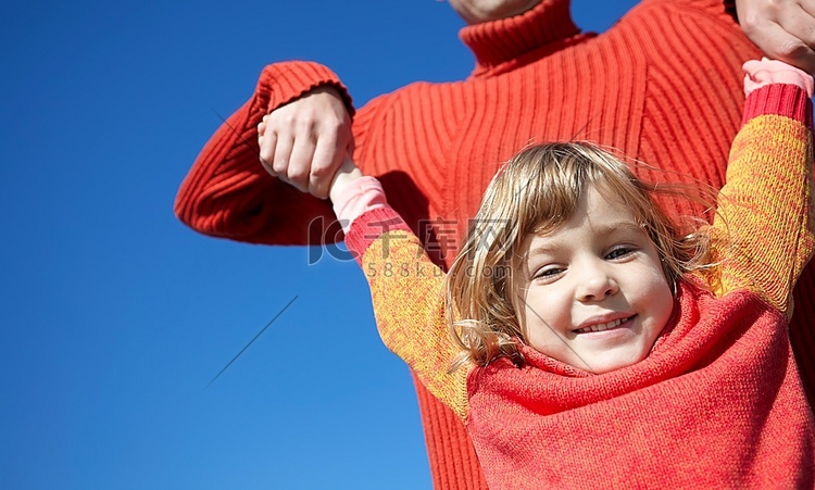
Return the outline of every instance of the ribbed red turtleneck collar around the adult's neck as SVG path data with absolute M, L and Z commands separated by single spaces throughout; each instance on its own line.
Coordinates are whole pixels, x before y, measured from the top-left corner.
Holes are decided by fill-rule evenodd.
M 567 40 L 580 29 L 572 21 L 569 0 L 543 0 L 521 15 L 464 27 L 461 40 L 476 56 L 473 76 L 501 72 L 524 54 Z

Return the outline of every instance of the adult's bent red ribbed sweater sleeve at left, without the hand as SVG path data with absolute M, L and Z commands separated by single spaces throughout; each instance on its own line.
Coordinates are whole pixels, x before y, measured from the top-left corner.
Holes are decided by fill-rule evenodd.
M 198 155 L 176 197 L 178 218 L 205 235 L 254 243 L 322 240 L 325 224 L 334 221 L 330 205 L 264 171 L 258 125 L 269 112 L 324 87 L 333 87 L 353 114 L 346 87 L 327 67 L 310 62 L 266 66 L 252 97 Z

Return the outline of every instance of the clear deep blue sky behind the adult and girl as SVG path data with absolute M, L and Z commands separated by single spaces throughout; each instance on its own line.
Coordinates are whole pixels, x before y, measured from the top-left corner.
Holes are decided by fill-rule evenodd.
M 632 3 L 574 16 L 603 30 Z M 172 206 L 266 63 L 321 61 L 359 104 L 465 77 L 461 26 L 434 0 L 0 8 L 0 488 L 430 487 L 356 266 L 205 238 Z

